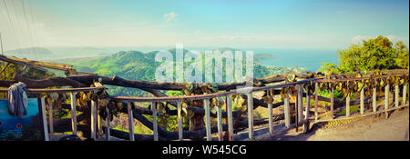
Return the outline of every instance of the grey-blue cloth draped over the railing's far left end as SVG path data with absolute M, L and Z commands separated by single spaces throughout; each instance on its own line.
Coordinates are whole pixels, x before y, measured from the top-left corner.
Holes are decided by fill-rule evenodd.
M 23 119 L 28 104 L 26 84 L 18 82 L 8 88 L 8 113 Z

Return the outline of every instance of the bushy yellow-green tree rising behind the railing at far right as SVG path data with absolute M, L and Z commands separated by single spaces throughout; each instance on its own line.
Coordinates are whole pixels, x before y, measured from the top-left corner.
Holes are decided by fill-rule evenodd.
M 348 49 L 338 52 L 340 65 L 323 63 L 318 71 L 333 73 L 353 73 L 374 69 L 408 69 L 408 47 L 401 41 L 395 46 L 384 36 L 364 40 L 363 44 L 350 45 Z

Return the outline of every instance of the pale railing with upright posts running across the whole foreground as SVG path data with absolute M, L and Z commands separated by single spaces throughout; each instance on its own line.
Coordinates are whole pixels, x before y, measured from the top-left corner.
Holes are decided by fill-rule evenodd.
M 403 75 L 403 74 L 402 74 Z M 405 73 L 406 77 L 408 78 L 408 73 Z M 306 131 L 309 127 L 306 126 L 308 125 L 309 122 L 326 122 L 326 121 L 333 121 L 333 120 L 342 120 L 342 119 L 348 119 L 352 117 L 358 117 L 358 116 L 365 116 L 365 115 L 372 115 L 372 114 L 380 114 L 380 113 L 385 113 L 388 115 L 389 111 L 399 109 L 405 106 L 408 106 L 406 104 L 406 90 L 407 90 L 407 84 L 403 84 L 403 102 L 402 104 L 399 104 L 399 86 L 401 84 L 396 84 L 395 85 L 395 106 L 390 107 L 389 104 L 389 88 L 390 85 L 387 84 L 385 85 L 385 90 L 384 90 L 384 109 L 377 111 L 377 96 L 376 96 L 376 89 L 373 89 L 373 102 L 372 102 L 372 112 L 370 113 L 365 113 L 364 111 L 364 89 L 369 89 L 364 87 L 361 92 L 360 92 L 360 115 L 358 116 L 351 116 L 350 114 L 350 94 L 347 95 L 345 99 L 345 109 L 346 109 L 346 114 L 345 116 L 334 116 L 334 86 L 331 88 L 328 88 L 331 90 L 331 101 L 330 101 L 330 118 L 328 119 L 318 119 L 318 92 L 319 92 L 319 84 L 321 83 L 340 83 L 340 82 L 348 82 L 348 81 L 364 81 L 368 79 L 378 79 L 378 78 L 386 78 L 386 77 L 392 77 L 392 76 L 397 76 L 397 75 L 379 75 L 375 77 L 361 77 L 361 78 L 344 78 L 344 79 L 325 79 L 324 77 L 320 78 L 311 78 L 311 79 L 305 79 L 301 81 L 296 81 L 292 83 L 284 83 L 284 84 L 273 84 L 273 85 L 267 85 L 267 86 L 262 86 L 262 87 L 245 87 L 245 88 L 240 88 L 236 90 L 231 90 L 228 92 L 219 92 L 219 93 L 214 93 L 214 94 L 197 94 L 197 95 L 186 95 L 186 96 L 167 96 L 167 97 L 129 97 L 129 96 L 109 96 L 110 100 L 118 101 L 118 102 L 125 102 L 127 103 L 127 113 L 128 113 L 128 128 L 129 128 L 129 140 L 134 141 L 135 140 L 135 135 L 134 135 L 134 115 L 133 115 L 133 110 L 131 107 L 131 103 L 151 103 L 152 107 L 152 117 L 153 117 L 153 122 L 152 122 L 152 130 L 153 130 L 153 140 L 158 141 L 159 140 L 159 124 L 157 121 L 157 115 L 158 115 L 158 110 L 157 110 L 157 105 L 160 102 L 173 102 L 177 104 L 177 111 L 178 111 L 178 140 L 181 141 L 184 139 L 183 135 L 183 129 L 182 129 L 182 102 L 183 101 L 203 101 L 204 105 L 204 110 L 205 110 L 205 127 L 206 127 L 206 139 L 207 141 L 210 141 L 212 136 L 211 132 L 211 125 L 210 125 L 210 99 L 211 98 L 216 98 L 216 97 L 222 97 L 224 98 L 224 102 L 226 104 L 226 114 L 227 114 L 227 120 L 228 120 L 228 129 L 224 130 L 222 126 L 222 110 L 220 107 L 217 108 L 217 127 L 218 127 L 218 138 L 219 140 L 223 140 L 222 137 L 222 132 L 228 131 L 229 135 L 229 140 L 232 141 L 234 138 L 234 129 L 233 129 L 233 116 L 232 116 L 232 95 L 234 94 L 244 94 L 246 96 L 247 100 L 247 114 L 248 114 L 248 140 L 260 140 L 261 138 L 266 138 L 270 137 L 272 135 L 281 133 L 283 131 L 290 130 L 294 127 L 296 127 L 296 130 L 298 130 L 298 127 L 302 125 L 303 131 Z M 314 92 L 315 94 L 309 94 L 309 87 L 307 85 L 309 84 L 314 84 Z M 305 93 L 303 93 L 303 87 L 305 87 Z M 279 88 L 286 88 L 286 87 L 296 87 L 296 93 L 295 93 L 295 122 L 294 124 L 291 124 L 291 104 L 290 104 L 290 98 L 291 94 L 289 92 L 285 92 L 285 97 L 284 97 L 284 102 L 283 102 L 283 108 L 284 108 L 284 125 L 285 128 L 284 130 L 281 131 L 274 131 L 273 130 L 273 122 L 272 122 L 272 104 L 268 104 L 268 117 L 269 117 L 269 133 L 266 135 L 263 135 L 261 137 L 255 138 L 254 135 L 254 119 L 253 119 L 253 99 L 252 94 L 255 92 L 259 91 L 273 91 L 273 89 L 279 89 Z M 89 87 L 89 88 L 61 88 L 61 89 L 27 89 L 27 93 L 29 94 L 40 94 L 40 93 L 69 93 L 71 96 L 71 121 L 72 121 L 72 131 L 73 134 L 77 134 L 77 119 L 76 119 L 76 93 L 77 92 L 89 92 L 89 91 L 98 91 L 103 89 L 104 87 Z M 0 92 L 7 92 L 8 89 L 6 88 L 1 88 Z M 305 114 L 303 114 L 303 94 L 304 97 L 306 98 L 305 100 Z M 314 104 L 314 117 L 310 115 L 310 110 L 311 110 L 311 97 L 314 96 L 315 104 Z M 45 114 L 45 99 L 42 98 L 42 110 L 43 113 Z M 102 131 L 102 124 L 99 115 L 97 115 L 97 102 L 98 101 L 91 101 L 91 138 L 96 138 L 97 131 L 101 132 Z M 50 126 L 50 134 L 53 134 L 53 108 L 51 103 L 49 103 L 49 124 Z M 107 118 L 106 118 L 106 135 L 107 135 L 107 140 L 110 139 L 110 119 L 109 119 L 109 114 L 110 112 L 108 111 L 108 106 L 106 106 L 106 113 L 107 113 Z M 46 119 L 44 118 L 44 121 Z M 46 125 L 47 126 L 47 125 Z M 45 132 L 47 131 L 45 126 Z M 99 133 L 102 134 L 102 133 Z M 185 137 L 186 138 L 186 137 Z M 48 138 L 46 139 L 48 140 Z

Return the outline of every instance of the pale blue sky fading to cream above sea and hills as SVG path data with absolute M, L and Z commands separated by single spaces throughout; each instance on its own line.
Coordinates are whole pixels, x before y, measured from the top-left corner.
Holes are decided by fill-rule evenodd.
M 344 49 L 409 44 L 408 0 L 0 0 L 5 50 L 30 46 Z

